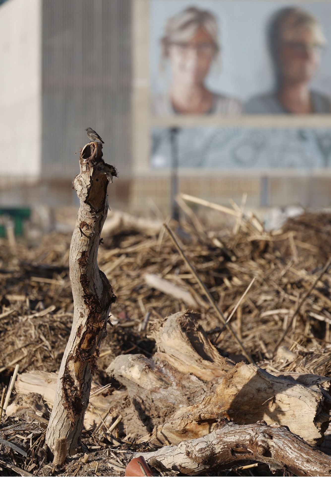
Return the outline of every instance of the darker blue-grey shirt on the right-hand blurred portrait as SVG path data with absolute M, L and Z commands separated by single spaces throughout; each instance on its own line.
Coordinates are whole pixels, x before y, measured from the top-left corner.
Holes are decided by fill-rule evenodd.
M 331 99 L 316 91 L 311 91 L 314 114 L 331 114 Z M 264 94 L 251 98 L 243 108 L 245 114 L 293 114 L 277 99 L 276 94 Z

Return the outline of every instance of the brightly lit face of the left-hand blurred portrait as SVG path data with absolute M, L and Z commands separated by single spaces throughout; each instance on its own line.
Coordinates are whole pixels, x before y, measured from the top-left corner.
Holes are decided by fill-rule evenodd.
M 187 85 L 203 83 L 215 53 L 215 44 L 203 28 L 190 41 L 171 43 L 169 59 L 174 80 Z

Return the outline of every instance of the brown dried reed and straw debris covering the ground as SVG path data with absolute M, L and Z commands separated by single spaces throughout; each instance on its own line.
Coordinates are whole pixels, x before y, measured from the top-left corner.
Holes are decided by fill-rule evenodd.
M 196 217 L 170 226 L 226 318 L 254 279 L 231 322 L 259 366 L 271 372 L 330 375 L 330 271 L 309 293 L 282 340 L 281 344 L 295 352 L 297 358 L 291 363 L 281 361 L 273 358 L 273 350 L 291 313 L 331 256 L 331 214 L 305 213 L 270 233 L 254 217 L 243 217 L 240 224 L 227 229 L 213 229 Z M 221 323 L 164 229 L 154 236 L 135 230 L 102 236 L 99 266 L 118 298 L 111 310 L 113 327 L 109 326 L 108 336 L 102 342 L 99 371 L 94 376 L 100 385 L 109 382 L 104 370 L 120 353 L 153 355 L 153 329 L 170 314 L 187 309 L 183 301 L 150 288 L 144 280 L 146 273 L 157 274 L 190 291 L 211 341 L 222 354 L 236 361 L 242 359 L 231 335 L 226 330 L 220 334 Z M 70 234 L 53 233 L 33 247 L 24 240 L 14 244 L 1 240 L 0 394 L 9 385 L 16 364 L 20 365 L 20 373 L 59 370 L 73 316 L 70 239 Z M 148 313 L 146 330 L 141 332 L 141 323 Z M 114 381 L 106 392 L 119 387 Z M 53 469 L 42 452 L 47 410 L 39 419 L 30 417 L 30 422 L 18 416 L 2 417 L 0 439 L 19 446 L 23 454 L 0 441 L 0 475 L 18 475 L 22 470 L 22 475 L 38 476 L 120 475 L 128 452 L 141 449 L 135 444 L 136 436 L 118 433 L 120 446 L 113 446 L 102 437 L 101 427 L 101 432 L 94 436 L 92 431 L 84 431 L 82 454 L 68 459 L 64 468 Z M 82 460 L 85 452 L 86 463 Z M 269 468 L 259 465 L 220 475 L 271 473 Z

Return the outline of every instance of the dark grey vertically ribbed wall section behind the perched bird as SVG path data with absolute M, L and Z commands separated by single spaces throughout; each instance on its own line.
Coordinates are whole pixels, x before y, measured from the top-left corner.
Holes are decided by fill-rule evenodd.
M 131 171 L 131 0 L 43 0 L 43 178 L 73 177 L 86 127 Z

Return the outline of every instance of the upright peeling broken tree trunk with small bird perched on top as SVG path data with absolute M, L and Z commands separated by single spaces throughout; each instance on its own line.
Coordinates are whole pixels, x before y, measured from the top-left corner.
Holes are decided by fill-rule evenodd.
M 67 454 L 75 454 L 80 446 L 92 373 L 97 366 L 100 342 L 107 334 L 110 306 L 116 299 L 97 262 L 100 233 L 109 207 L 107 187 L 112 176 L 117 176 L 117 171 L 103 161 L 101 143 L 85 145 L 80 153 L 80 174 L 73 182 L 80 199 L 69 257 L 74 316 L 47 428 L 46 443 L 51 453 L 62 437 L 67 441 Z

